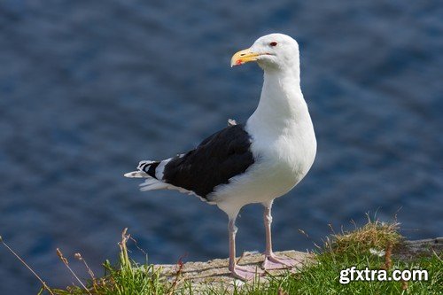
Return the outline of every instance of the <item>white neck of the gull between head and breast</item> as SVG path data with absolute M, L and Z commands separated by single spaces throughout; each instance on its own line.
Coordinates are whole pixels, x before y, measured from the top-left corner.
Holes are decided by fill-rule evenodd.
M 310 117 L 300 89 L 299 70 L 265 71 L 260 103 L 248 122 L 284 130 L 306 120 Z

